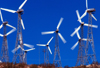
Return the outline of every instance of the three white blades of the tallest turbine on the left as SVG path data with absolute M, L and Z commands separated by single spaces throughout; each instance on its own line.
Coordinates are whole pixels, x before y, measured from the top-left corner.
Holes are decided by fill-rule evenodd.
M 5 11 L 11 12 L 11 13 L 18 13 L 18 15 L 21 15 L 21 13 L 24 11 L 24 10 L 22 9 L 22 7 L 25 5 L 26 2 L 27 2 L 27 0 L 25 0 L 25 1 L 19 6 L 19 8 L 18 8 L 17 11 L 15 11 L 15 10 L 10 10 L 10 9 L 6 9 L 6 8 L 1 8 L 1 10 L 5 10 Z M 24 23 L 23 23 L 23 20 L 22 20 L 21 16 L 19 16 L 19 19 L 20 19 L 20 21 L 21 21 L 21 25 L 22 25 L 23 29 L 25 29 Z

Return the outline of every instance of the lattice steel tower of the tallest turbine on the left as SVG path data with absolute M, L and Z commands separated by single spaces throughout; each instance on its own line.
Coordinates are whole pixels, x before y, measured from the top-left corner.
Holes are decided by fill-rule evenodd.
M 18 23 L 17 23 L 17 37 L 16 37 L 16 44 L 15 48 L 17 48 L 19 45 L 23 48 L 23 38 L 22 38 L 22 26 L 21 26 L 21 15 L 23 14 L 23 11 L 19 11 L 18 13 Z M 13 63 L 24 63 L 23 60 L 24 51 L 20 48 L 14 53 L 13 57 Z

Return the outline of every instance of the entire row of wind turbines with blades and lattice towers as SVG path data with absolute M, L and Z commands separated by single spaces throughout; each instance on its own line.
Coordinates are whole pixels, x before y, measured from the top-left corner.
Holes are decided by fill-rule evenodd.
M 11 9 L 7 9 L 7 8 L 0 8 L 0 18 L 1 18 L 1 22 L 2 24 L 0 25 L 0 29 L 3 29 L 3 34 L 0 33 L 0 36 L 3 37 L 3 43 L 2 43 L 2 49 L 1 49 L 1 58 L 0 58 L 0 62 L 1 63 L 7 63 L 9 62 L 9 53 L 8 53 L 8 43 L 7 42 L 7 36 L 9 36 L 11 33 L 15 32 L 17 30 L 17 36 L 16 36 L 16 43 L 15 43 L 15 48 L 13 48 L 12 53 L 14 54 L 12 62 L 15 63 L 26 63 L 27 64 L 27 52 L 34 50 L 35 51 L 35 47 L 33 45 L 30 44 L 26 44 L 23 42 L 23 33 L 22 31 L 25 31 L 25 26 L 24 26 L 24 22 L 22 19 L 22 15 L 24 10 L 22 9 L 24 7 L 24 5 L 26 4 L 27 0 L 25 0 L 17 10 L 11 10 Z M 3 19 L 3 15 L 2 15 L 2 11 L 7 11 L 10 13 L 17 13 L 18 14 L 18 22 L 17 22 L 17 28 L 10 25 L 10 22 L 8 23 L 8 21 L 4 21 Z M 83 13 L 83 15 L 80 16 L 80 13 L 78 10 L 76 10 L 76 14 L 77 14 L 77 18 L 78 18 L 78 22 L 80 23 L 80 25 L 78 27 L 75 28 L 75 31 L 70 35 L 71 37 L 73 37 L 75 34 L 77 35 L 78 41 L 74 44 L 74 46 L 71 47 L 71 50 L 74 50 L 76 48 L 76 46 L 79 44 L 79 49 L 78 49 L 78 56 L 77 56 L 77 61 L 76 61 L 76 65 L 75 66 L 81 66 L 81 65 L 89 65 L 91 63 L 96 63 L 97 59 L 96 59 L 96 53 L 95 53 L 95 46 L 94 46 L 94 39 L 93 39 L 93 32 L 92 32 L 92 28 L 98 28 L 97 25 L 92 25 L 92 18 L 97 21 L 96 17 L 93 15 L 93 12 L 95 12 L 95 8 L 88 8 L 88 0 L 86 0 L 86 10 Z M 88 23 L 85 23 L 82 21 L 82 19 L 86 16 L 89 15 L 88 17 Z M 55 46 L 54 46 L 54 57 L 53 57 L 53 62 L 52 64 L 54 64 L 56 67 L 62 67 L 62 62 L 61 62 L 61 55 L 60 55 L 60 45 L 59 45 L 59 38 L 62 40 L 62 42 L 65 44 L 67 41 L 64 39 L 63 34 L 60 33 L 60 26 L 61 24 L 63 24 L 64 18 L 61 17 L 58 25 L 56 26 L 56 30 L 54 31 L 45 31 L 45 32 L 41 32 L 42 35 L 46 35 L 46 34 L 55 34 L 55 36 L 52 36 L 50 39 L 46 40 L 48 41 L 45 44 L 41 44 L 41 43 L 37 43 L 37 46 L 42 46 L 46 47 L 46 55 L 45 56 L 45 60 L 44 60 L 44 64 L 50 64 L 49 63 L 49 53 L 52 54 L 53 51 L 51 51 L 51 46 L 50 46 L 50 42 L 52 42 L 53 38 L 55 37 Z M 88 33 L 87 33 L 87 37 L 84 38 L 84 26 L 88 27 Z M 6 32 L 7 31 L 7 27 L 12 28 L 11 31 Z M 81 30 L 79 32 L 79 30 Z M 49 35 L 48 35 L 49 36 Z M 8 39 L 9 40 L 9 39 Z M 84 44 L 84 42 L 86 42 L 86 45 Z M 24 47 L 28 47 L 28 49 L 25 49 Z M 92 53 L 89 53 L 89 47 L 92 48 Z M 92 60 L 92 62 L 90 61 Z

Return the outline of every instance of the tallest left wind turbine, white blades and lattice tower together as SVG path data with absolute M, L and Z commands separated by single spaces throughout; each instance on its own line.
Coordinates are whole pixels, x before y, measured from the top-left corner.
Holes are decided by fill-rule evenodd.
M 16 44 L 15 44 L 15 48 L 18 47 L 19 45 L 19 34 L 21 34 L 21 38 L 22 38 L 22 28 L 25 30 L 25 27 L 24 27 L 24 23 L 23 23 L 23 20 L 22 20 L 22 17 L 21 15 L 23 14 L 23 9 L 22 7 L 25 5 L 25 3 L 27 2 L 27 0 L 25 0 L 18 8 L 17 11 L 15 10 L 11 10 L 11 9 L 6 9 L 6 8 L 1 8 L 1 10 L 4 10 L 4 11 L 8 11 L 8 12 L 11 12 L 11 13 L 17 13 L 18 14 L 18 23 L 17 23 L 17 37 L 16 37 Z M 21 40 L 22 41 L 22 44 L 23 44 L 23 39 Z M 23 47 L 23 45 L 21 44 L 21 46 Z M 23 61 L 21 60 L 22 59 L 22 55 L 23 54 L 23 51 L 21 50 L 20 51 L 20 55 L 16 53 L 14 53 L 14 57 L 13 57 L 13 63 L 16 63 L 16 59 L 17 59 L 17 56 L 19 56 L 19 62 L 22 63 Z

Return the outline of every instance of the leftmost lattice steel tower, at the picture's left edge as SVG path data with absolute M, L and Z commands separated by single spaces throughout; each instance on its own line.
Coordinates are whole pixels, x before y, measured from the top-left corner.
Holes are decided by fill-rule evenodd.
M 2 43 L 2 49 L 1 49 L 1 61 L 2 62 L 9 62 L 6 24 L 8 24 L 7 21 L 3 23 L 4 30 L 3 30 L 3 43 Z

